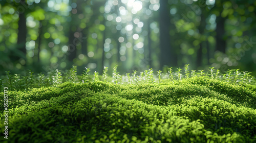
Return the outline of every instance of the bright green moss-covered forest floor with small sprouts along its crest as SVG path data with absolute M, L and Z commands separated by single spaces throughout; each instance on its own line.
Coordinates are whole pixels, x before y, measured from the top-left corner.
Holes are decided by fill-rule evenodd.
M 219 77 L 210 70 L 172 73 L 171 68 L 158 76 L 148 69 L 139 76 L 113 70 L 112 77 L 104 72 L 61 77 L 55 70 L 41 83 L 39 76 L 27 75 L 27 83 L 7 76 L 2 88 L 9 86 L 8 139 L 1 104 L 0 141 L 256 142 L 255 79 L 233 71 Z

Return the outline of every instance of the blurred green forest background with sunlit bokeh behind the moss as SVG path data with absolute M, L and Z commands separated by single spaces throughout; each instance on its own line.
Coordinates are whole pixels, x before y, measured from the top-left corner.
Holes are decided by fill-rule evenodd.
M 166 30 L 179 67 L 240 68 L 255 75 L 256 2 L 169 0 L 166 6 L 170 16 Z M 72 65 L 78 66 L 79 74 L 84 66 L 102 71 L 116 64 L 121 74 L 162 70 L 159 9 L 163 7 L 159 0 L 0 1 L 0 74 L 25 69 L 47 73 Z M 218 25 L 221 22 L 223 26 Z M 27 34 L 19 34 L 22 29 Z M 24 36 L 26 41 L 18 42 Z M 218 42 L 223 46 L 217 47 Z

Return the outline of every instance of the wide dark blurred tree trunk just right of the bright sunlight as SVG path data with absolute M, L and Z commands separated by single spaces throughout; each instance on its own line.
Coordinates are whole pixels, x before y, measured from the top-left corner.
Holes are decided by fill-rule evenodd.
M 176 66 L 177 58 L 173 47 L 170 45 L 170 13 L 167 1 L 160 1 L 159 24 L 160 24 L 160 68 L 164 65 Z

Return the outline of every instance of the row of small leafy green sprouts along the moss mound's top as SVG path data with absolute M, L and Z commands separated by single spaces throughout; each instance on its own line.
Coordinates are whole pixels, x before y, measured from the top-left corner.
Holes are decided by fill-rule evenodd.
M 8 87 L 9 90 L 27 90 L 28 88 L 38 87 L 52 87 L 57 86 L 61 83 L 86 83 L 89 81 L 106 81 L 114 84 L 145 84 L 145 83 L 174 83 L 176 81 L 181 82 L 193 77 L 204 77 L 209 79 L 216 79 L 231 84 L 238 85 L 254 85 L 255 77 L 251 76 L 251 73 L 247 71 L 240 71 L 239 69 L 229 69 L 224 71 L 224 74 L 220 73 L 219 69 L 209 67 L 208 71 L 204 70 L 190 70 L 188 64 L 184 66 L 184 69 L 177 68 L 174 72 L 172 67 L 168 68 L 168 73 L 162 73 L 161 70 L 157 71 L 156 75 L 154 70 L 147 69 L 141 72 L 139 75 L 137 71 L 134 71 L 132 76 L 130 73 L 126 75 L 119 75 L 117 71 L 117 65 L 114 67 L 112 72 L 112 79 L 107 76 L 108 67 L 104 67 L 102 78 L 99 78 L 99 73 L 95 71 L 92 75 L 90 74 L 90 68 L 86 68 L 82 75 L 77 75 L 77 67 L 73 66 L 70 70 L 61 71 L 58 69 L 52 69 L 48 72 L 48 75 L 44 74 L 33 74 L 31 70 L 27 70 L 25 74 L 11 74 L 10 71 L 6 71 L 6 76 L 0 78 L 0 91 L 3 91 L 3 87 Z M 184 73 L 184 74 L 183 74 Z

